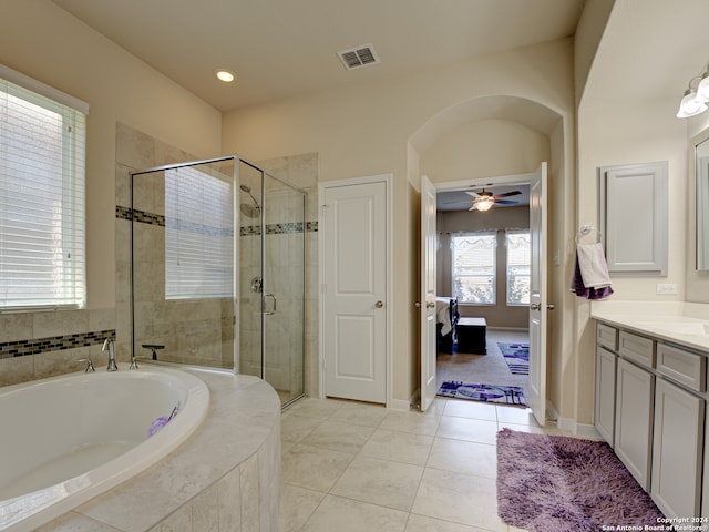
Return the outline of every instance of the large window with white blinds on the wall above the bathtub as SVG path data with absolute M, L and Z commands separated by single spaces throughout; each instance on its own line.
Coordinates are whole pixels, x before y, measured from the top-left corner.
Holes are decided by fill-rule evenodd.
M 85 188 L 86 188 L 86 174 L 85 174 L 85 160 L 86 160 L 86 130 L 88 130 L 88 114 L 89 105 L 81 100 L 78 100 L 69 94 L 65 94 L 54 88 L 45 85 L 32 78 L 29 78 L 20 72 L 13 71 L 4 65 L 0 65 L 0 98 L 3 102 L 12 102 L 13 100 L 20 100 L 28 103 L 28 110 L 41 108 L 49 111 L 56 117 L 56 124 L 61 125 L 54 130 L 56 134 L 55 139 L 59 139 L 56 133 L 61 127 L 61 141 L 58 141 L 55 153 L 61 153 L 61 162 L 53 166 L 49 166 L 49 173 L 44 175 L 44 178 L 61 178 L 61 185 L 56 188 L 39 188 L 37 194 L 22 194 L 22 187 L 30 190 L 25 180 L 22 178 L 21 172 L 28 172 L 28 168 L 32 168 L 32 163 L 38 161 L 30 156 L 6 158 L 8 163 L 6 166 L 0 167 L 0 178 L 6 183 L 6 193 L 10 190 L 11 184 L 18 185 L 20 192 L 16 192 L 12 195 L 6 194 L 4 197 L 9 201 L 3 202 L 3 209 L 6 213 L 12 213 L 22 208 L 22 204 L 29 204 L 33 198 L 39 198 L 41 202 L 50 202 L 56 205 L 52 213 L 54 216 L 59 215 L 61 222 L 52 225 L 47 225 L 47 218 L 39 221 L 43 224 L 42 232 L 39 233 L 45 238 L 51 241 L 51 235 L 61 235 L 59 239 L 54 239 L 52 244 L 42 244 L 39 246 L 41 253 L 30 252 L 29 247 L 24 249 L 18 247 L 16 249 L 6 248 L 0 249 L 0 272 L 8 272 L 8 276 L 4 280 L 0 280 L 6 286 L 6 294 L 0 299 L 0 313 L 23 313 L 23 311 L 41 311 L 41 310 L 60 310 L 60 309 L 78 309 L 86 307 L 86 235 L 85 235 Z M 6 108 L 10 109 L 10 108 Z M 38 111 L 39 113 L 39 111 Z M 16 127 L 21 127 L 16 131 L 28 131 L 37 133 L 37 126 L 33 126 L 30 120 L 41 120 L 41 114 L 29 114 L 27 121 L 20 120 L 16 124 L 20 124 Z M 10 124 L 10 122 L 8 122 Z M 18 140 L 18 136 L 12 136 L 8 125 L 8 132 L 10 136 L 7 136 L 8 141 Z M 23 155 L 32 153 L 29 144 L 30 141 L 20 143 L 21 147 L 10 149 L 10 144 L 7 144 L 8 153 L 22 152 Z M 35 141 L 37 142 L 37 141 Z M 47 144 L 50 144 L 49 142 Z M 24 147 L 27 146 L 27 147 Z M 0 150 L 3 150 L 0 145 Z M 43 158 L 42 158 L 43 157 Z M 40 152 L 40 158 L 43 164 L 47 164 L 47 154 Z M 52 173 L 54 172 L 55 173 Z M 61 173 L 61 175 L 60 175 Z M 38 174 L 40 175 L 40 174 Z M 41 175 L 40 175 L 41 176 Z M 39 180 L 38 180 L 39 181 Z M 47 183 L 47 182 L 45 182 Z M 33 184 L 33 183 L 31 183 Z M 41 185 L 41 183 L 40 183 Z M 43 203 L 40 203 L 42 205 Z M 29 211 L 31 213 L 31 211 Z M 25 221 L 19 217 L 12 217 L 12 214 L 8 214 L 6 218 L 9 221 L 7 226 L 10 231 L 8 233 L 9 242 L 24 242 L 21 229 L 17 227 L 12 231 L 11 221 L 17 221 L 20 226 Z M 53 228 L 52 228 L 53 227 Z M 29 229 L 28 229 L 29 231 Z M 60 243 L 58 245 L 58 242 Z M 56 255 L 56 250 L 61 249 L 61 255 Z M 37 258 L 39 255 L 44 254 L 44 257 Z M 30 255 L 28 255 L 30 254 Z M 23 259 L 28 259 L 28 256 L 34 255 L 35 263 L 40 265 L 39 273 L 34 277 L 30 276 L 28 272 L 30 268 L 22 267 L 16 268 L 13 273 L 12 264 L 21 264 Z M 47 258 L 50 257 L 50 258 Z M 7 264 L 8 267 L 6 269 Z M 47 274 L 47 269 L 51 269 L 53 273 L 50 276 Z M 19 273 L 19 275 L 18 275 Z M 1 274 L 4 276 L 4 274 Z M 51 278 L 51 284 L 47 283 L 47 279 Z M 42 286 L 42 284 L 44 285 Z M 21 287 L 33 285 L 34 291 L 28 290 L 22 294 Z M 37 288 L 39 287 L 39 288 Z

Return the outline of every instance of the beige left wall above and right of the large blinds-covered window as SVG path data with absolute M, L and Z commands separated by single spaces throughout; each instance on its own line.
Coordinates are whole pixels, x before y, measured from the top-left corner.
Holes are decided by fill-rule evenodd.
M 2 1 L 0 63 L 90 105 L 88 306 L 113 307 L 116 122 L 213 156 L 222 147 L 222 115 L 49 0 Z

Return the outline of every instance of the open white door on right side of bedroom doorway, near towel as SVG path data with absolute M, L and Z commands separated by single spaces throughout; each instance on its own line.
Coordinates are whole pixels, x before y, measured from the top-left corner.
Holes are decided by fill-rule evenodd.
M 546 163 L 530 182 L 530 383 L 527 399 L 540 424 L 546 421 Z

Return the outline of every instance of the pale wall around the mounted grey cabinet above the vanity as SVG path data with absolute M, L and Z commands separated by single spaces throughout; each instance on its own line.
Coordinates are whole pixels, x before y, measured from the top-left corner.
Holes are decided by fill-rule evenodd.
M 578 191 L 576 225 L 598 227 L 596 168 L 604 165 L 667 161 L 669 182 L 669 262 L 667 277 L 612 275 L 613 299 L 684 300 L 687 257 L 687 139 L 686 124 L 676 119 L 677 101 L 613 103 L 578 111 Z M 628 202 L 634 198 L 628 197 Z M 658 296 L 657 283 L 674 283 L 677 295 Z M 578 403 L 572 416 L 593 422 L 594 320 L 589 304 L 576 298 Z

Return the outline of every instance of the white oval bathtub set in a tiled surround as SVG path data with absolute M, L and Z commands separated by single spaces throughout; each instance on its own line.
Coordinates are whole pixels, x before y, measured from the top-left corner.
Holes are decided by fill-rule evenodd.
M 0 388 L 0 531 L 33 530 L 140 473 L 192 434 L 208 403 L 197 377 L 146 365 Z

